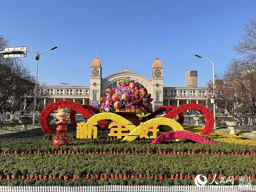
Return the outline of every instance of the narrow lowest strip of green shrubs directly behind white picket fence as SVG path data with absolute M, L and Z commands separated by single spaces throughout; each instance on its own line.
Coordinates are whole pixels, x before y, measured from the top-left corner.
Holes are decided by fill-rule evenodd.
M 211 183 L 212 179 L 208 179 L 208 183 Z M 238 185 L 239 180 L 234 180 L 234 185 Z M 256 179 L 253 179 L 251 182 L 251 185 L 256 184 Z M 164 179 L 164 180 L 158 180 L 158 179 L 147 179 L 147 178 L 132 178 L 132 179 L 77 179 L 77 180 L 53 180 L 53 179 L 47 179 L 47 180 L 0 180 L 1 186 L 99 186 L 99 185 L 155 185 L 155 186 L 161 186 L 161 185 L 195 185 L 194 180 L 190 179 Z M 215 182 L 213 182 L 212 185 L 216 185 Z M 218 184 L 218 185 L 223 185 Z M 231 185 L 230 182 L 228 182 L 225 185 Z

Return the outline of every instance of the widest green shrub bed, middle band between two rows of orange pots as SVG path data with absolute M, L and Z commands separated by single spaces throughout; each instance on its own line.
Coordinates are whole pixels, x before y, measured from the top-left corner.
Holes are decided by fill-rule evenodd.
M 158 178 L 159 175 L 177 174 L 183 176 L 193 174 L 255 176 L 256 174 L 256 156 L 63 154 L 0 155 L 0 158 L 0 174 L 16 176 L 26 174 L 69 176 L 74 174 L 81 178 L 91 174 L 95 176 L 107 174 L 108 177 L 111 174 L 132 174 L 133 176 L 136 174 L 138 177 L 139 175 L 147 177 L 147 174 L 155 174 L 157 176 L 154 178 Z

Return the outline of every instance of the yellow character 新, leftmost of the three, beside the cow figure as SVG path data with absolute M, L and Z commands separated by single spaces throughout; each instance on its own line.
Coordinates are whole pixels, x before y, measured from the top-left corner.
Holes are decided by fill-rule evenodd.
M 77 139 L 97 139 L 97 127 L 93 126 L 97 125 L 95 122 L 90 123 L 78 123 L 76 127 L 76 138 Z

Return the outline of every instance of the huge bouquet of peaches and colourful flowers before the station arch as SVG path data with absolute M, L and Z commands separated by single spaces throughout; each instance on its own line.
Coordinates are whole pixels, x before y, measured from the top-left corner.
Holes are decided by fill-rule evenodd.
M 137 88 L 135 82 L 131 82 L 129 78 L 118 81 L 118 86 L 106 89 L 106 97 L 100 98 L 102 102 L 100 111 L 115 112 L 119 108 L 137 108 L 140 112 L 152 113 L 151 94 L 147 89 Z

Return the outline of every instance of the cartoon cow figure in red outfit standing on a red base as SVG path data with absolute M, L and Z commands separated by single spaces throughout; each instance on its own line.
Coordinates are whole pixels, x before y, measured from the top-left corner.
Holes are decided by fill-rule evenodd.
M 69 110 L 67 108 L 58 108 L 58 110 L 55 110 L 56 114 L 56 118 L 59 119 L 55 124 L 57 125 L 57 129 L 56 129 L 56 137 L 59 137 L 60 134 L 62 133 L 62 136 L 65 137 L 66 136 L 66 132 L 67 132 L 67 126 L 66 124 L 68 124 L 68 122 L 65 120 L 68 118 L 68 112 Z

